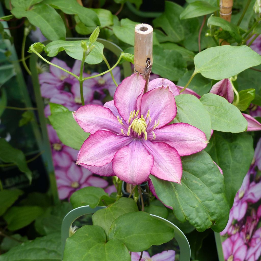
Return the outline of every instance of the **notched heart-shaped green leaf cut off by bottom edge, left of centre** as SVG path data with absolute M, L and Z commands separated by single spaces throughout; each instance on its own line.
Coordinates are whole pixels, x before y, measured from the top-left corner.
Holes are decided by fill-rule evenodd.
M 67 238 L 63 261 L 131 261 L 124 243 L 118 239 L 106 242 L 106 234 L 99 226 L 83 226 Z

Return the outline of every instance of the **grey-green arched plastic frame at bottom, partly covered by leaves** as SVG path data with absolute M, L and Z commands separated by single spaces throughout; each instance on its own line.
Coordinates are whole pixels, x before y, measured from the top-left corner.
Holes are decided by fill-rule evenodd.
M 67 215 L 64 217 L 63 222 L 62 222 L 62 253 L 64 251 L 65 247 L 65 242 L 66 239 L 69 237 L 69 230 L 72 225 L 72 223 L 80 216 L 86 215 L 86 214 L 93 214 L 99 209 L 105 208 L 104 206 L 97 206 L 94 209 L 92 209 L 90 206 L 81 206 L 77 207 L 76 209 L 71 210 Z M 153 217 L 158 218 L 159 220 L 163 220 L 166 223 L 169 224 L 170 227 L 174 228 L 174 234 L 175 234 L 175 239 L 177 240 L 179 247 L 180 247 L 180 261 L 189 261 L 190 260 L 190 246 L 188 243 L 188 240 L 186 236 L 183 234 L 183 232 L 175 226 L 173 223 L 170 221 L 166 220 L 165 218 L 152 215 Z

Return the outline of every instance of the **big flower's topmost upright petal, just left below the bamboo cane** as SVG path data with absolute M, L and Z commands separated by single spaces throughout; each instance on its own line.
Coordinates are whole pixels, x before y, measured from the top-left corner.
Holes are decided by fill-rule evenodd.
M 130 112 L 136 110 L 136 100 L 143 92 L 144 86 L 145 81 L 142 76 L 133 74 L 125 78 L 117 87 L 114 95 L 114 104 L 126 122 L 129 119 Z

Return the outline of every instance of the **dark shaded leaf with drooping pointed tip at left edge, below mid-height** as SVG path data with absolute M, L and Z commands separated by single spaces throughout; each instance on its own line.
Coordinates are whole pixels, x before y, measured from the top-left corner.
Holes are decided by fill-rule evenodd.
M 13 148 L 5 139 L 0 138 L 0 159 L 3 162 L 14 163 L 20 171 L 27 176 L 29 183 L 32 182 L 32 172 L 28 169 L 25 155 L 21 150 Z

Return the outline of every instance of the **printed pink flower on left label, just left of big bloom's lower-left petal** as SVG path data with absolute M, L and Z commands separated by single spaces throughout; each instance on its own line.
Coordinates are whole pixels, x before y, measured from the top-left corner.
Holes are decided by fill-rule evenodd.
M 51 125 L 47 126 L 48 136 L 52 147 L 54 166 L 68 168 L 77 158 L 77 150 L 61 143 L 56 131 Z

